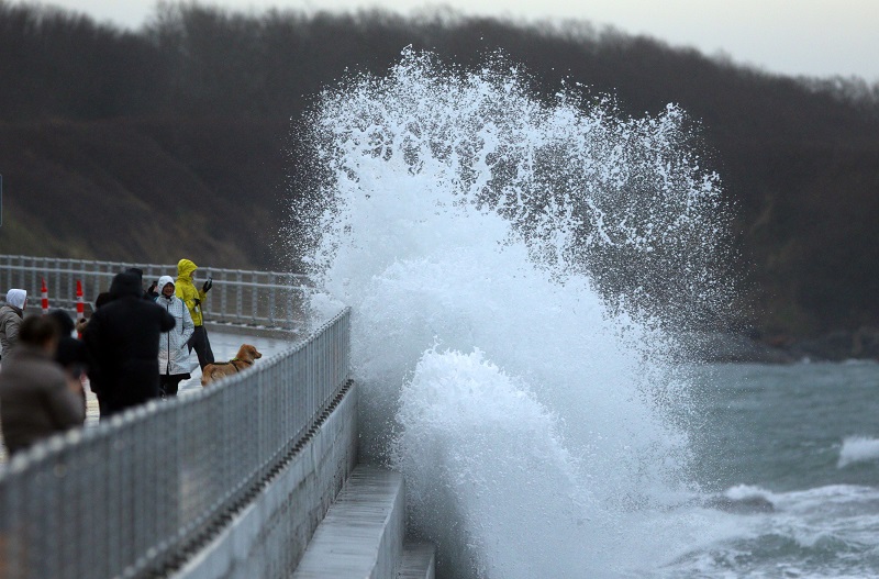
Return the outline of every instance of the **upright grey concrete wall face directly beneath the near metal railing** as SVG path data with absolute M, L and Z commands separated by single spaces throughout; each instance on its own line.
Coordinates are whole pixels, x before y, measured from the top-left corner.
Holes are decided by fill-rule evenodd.
M 289 577 L 357 461 L 357 388 L 300 452 L 174 577 Z

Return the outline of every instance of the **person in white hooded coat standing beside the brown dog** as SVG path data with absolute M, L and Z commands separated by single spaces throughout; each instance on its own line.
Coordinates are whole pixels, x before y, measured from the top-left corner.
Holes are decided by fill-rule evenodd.
M 191 378 L 189 375 L 189 342 L 196 325 L 186 304 L 174 294 L 174 278 L 158 278 L 159 294 L 156 303 L 166 309 L 177 322 L 173 330 L 158 337 L 158 372 L 162 398 L 177 396 L 180 381 Z

